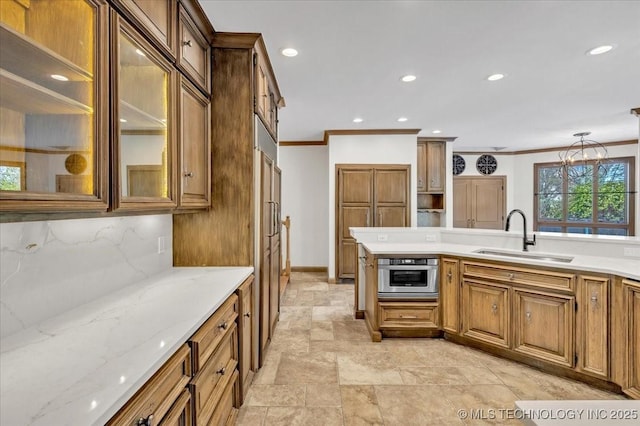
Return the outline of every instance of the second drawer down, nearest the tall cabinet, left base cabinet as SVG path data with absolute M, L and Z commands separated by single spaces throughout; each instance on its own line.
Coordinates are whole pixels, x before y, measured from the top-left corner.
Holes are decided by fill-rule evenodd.
M 233 323 L 218 349 L 190 385 L 196 410 L 196 423 L 199 425 L 207 424 L 227 383 L 235 374 L 238 366 L 237 333 L 236 325 Z

